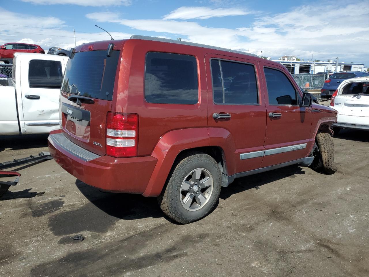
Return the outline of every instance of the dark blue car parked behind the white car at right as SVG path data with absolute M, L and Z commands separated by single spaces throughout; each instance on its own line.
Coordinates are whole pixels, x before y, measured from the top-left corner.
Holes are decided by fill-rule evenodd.
M 336 91 L 339 84 L 346 79 L 368 76 L 369 73 L 365 71 L 345 71 L 333 73 L 327 80 L 324 81 L 324 86 L 321 89 L 321 98 L 332 98 L 332 94 Z

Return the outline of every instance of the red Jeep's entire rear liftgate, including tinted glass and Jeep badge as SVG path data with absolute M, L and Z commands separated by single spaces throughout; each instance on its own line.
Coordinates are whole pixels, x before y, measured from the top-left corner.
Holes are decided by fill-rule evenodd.
M 107 57 L 104 51 L 75 53 L 68 60 L 62 82 L 60 103 L 62 129 L 75 144 L 97 155 L 106 153 L 106 116 L 111 111 L 111 100 L 120 51 L 112 51 Z M 77 105 L 66 98 L 80 95 L 92 98 Z

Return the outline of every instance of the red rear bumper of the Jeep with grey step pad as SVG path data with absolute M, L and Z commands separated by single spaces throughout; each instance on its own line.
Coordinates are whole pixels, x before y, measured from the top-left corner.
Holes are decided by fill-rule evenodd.
M 144 193 L 157 162 L 154 157 L 99 156 L 71 141 L 70 145 L 63 145 L 63 141 L 58 140 L 60 135 L 61 130 L 50 133 L 49 152 L 56 163 L 74 177 L 104 191 Z

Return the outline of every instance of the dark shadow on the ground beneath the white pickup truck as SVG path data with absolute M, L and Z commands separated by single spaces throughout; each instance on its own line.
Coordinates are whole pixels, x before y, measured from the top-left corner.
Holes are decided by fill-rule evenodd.
M 0 136 L 0 152 L 10 150 L 47 147 L 49 134 Z

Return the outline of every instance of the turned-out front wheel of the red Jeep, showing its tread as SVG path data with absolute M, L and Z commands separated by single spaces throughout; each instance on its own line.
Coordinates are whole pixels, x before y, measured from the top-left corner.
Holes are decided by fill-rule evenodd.
M 334 144 L 328 133 L 319 133 L 315 137 L 314 160 L 311 167 L 325 174 L 333 174 L 337 171 L 334 165 Z

